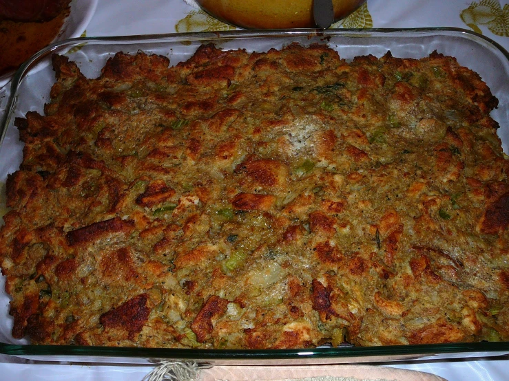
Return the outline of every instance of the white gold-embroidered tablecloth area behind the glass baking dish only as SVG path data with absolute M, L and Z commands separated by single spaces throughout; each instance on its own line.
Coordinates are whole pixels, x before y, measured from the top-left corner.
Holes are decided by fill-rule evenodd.
M 111 15 L 115 14 L 115 17 Z M 509 50 L 509 3 L 498 0 L 368 0 L 331 28 L 455 27 L 484 34 Z M 87 36 L 232 30 L 193 0 L 99 1 Z

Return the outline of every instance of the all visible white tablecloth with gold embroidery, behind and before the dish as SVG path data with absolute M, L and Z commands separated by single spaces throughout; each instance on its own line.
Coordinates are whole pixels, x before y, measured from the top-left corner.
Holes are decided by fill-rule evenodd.
M 89 0 L 77 0 L 89 1 Z M 509 3 L 497 0 L 368 0 L 335 28 L 456 27 L 484 34 L 509 50 Z M 193 0 L 99 0 L 87 36 L 117 36 L 228 30 L 196 7 Z M 450 361 L 398 362 L 384 366 L 426 371 L 447 380 L 509 379 L 509 356 Z M 26 364 L 0 355 L 0 379 L 139 380 L 152 367 Z

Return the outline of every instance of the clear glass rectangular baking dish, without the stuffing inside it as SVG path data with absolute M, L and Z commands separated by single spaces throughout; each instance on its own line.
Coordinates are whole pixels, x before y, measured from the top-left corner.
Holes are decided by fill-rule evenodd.
M 203 43 L 214 43 L 223 50 L 243 48 L 248 52 L 260 52 L 272 47 L 281 48 L 292 42 L 302 45 L 327 44 L 346 60 L 366 54 L 380 57 L 388 50 L 393 56 L 403 58 L 422 58 L 435 50 L 454 56 L 460 65 L 479 73 L 499 99 L 499 107 L 492 111 L 492 117 L 500 124 L 498 133 L 503 150 L 508 152 L 509 54 L 494 41 L 467 30 L 268 30 L 84 38 L 54 43 L 41 50 L 18 70 L 10 88 L 0 89 L 0 186 L 5 184 L 8 173 L 19 168 L 22 158 L 23 145 L 13 126 L 14 118 L 24 116 L 27 111 L 43 113 L 43 104 L 48 100 L 54 82 L 50 65 L 54 53 L 69 56 L 85 76 L 95 78 L 105 61 L 121 51 L 160 54 L 169 58 L 170 65 L 175 65 L 189 58 Z M 12 318 L 8 314 L 9 297 L 4 291 L 4 283 L 5 279 L 0 278 L 0 353 L 30 360 L 132 364 L 182 359 L 211 364 L 325 364 L 466 358 L 509 353 L 509 342 L 277 350 L 30 345 L 26 340 L 14 340 L 10 334 Z

